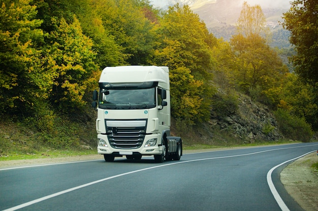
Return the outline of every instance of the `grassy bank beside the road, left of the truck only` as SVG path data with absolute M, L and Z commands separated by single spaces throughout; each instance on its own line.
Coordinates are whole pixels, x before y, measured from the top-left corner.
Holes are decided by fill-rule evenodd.
M 13 122 L 9 118 L 0 119 L 0 161 L 97 153 L 94 120 L 85 125 L 80 122 L 72 123 L 72 127 L 64 126 L 67 123 L 67 120 L 56 121 L 53 131 L 40 132 L 34 125 L 23 121 Z M 64 127 L 62 128 L 62 126 Z M 56 128 L 58 130 L 55 130 Z M 56 145 L 50 142 L 51 140 L 57 142 L 71 140 L 73 145 Z

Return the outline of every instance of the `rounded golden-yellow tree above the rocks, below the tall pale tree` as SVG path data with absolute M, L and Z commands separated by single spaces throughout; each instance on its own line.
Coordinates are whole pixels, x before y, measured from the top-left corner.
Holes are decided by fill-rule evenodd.
M 243 91 L 249 93 L 250 89 L 257 87 L 265 91 L 279 85 L 288 69 L 264 38 L 258 34 L 248 37 L 238 34 L 232 37 L 231 45 L 237 64 L 234 78 Z

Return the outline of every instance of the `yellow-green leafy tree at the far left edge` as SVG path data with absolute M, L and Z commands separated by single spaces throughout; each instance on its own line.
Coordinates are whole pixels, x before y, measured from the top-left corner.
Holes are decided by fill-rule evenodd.
M 31 1 L 1 1 L 0 112 L 27 114 L 46 99 L 51 76 L 41 67 L 42 21 Z M 28 113 L 30 115 L 30 113 Z

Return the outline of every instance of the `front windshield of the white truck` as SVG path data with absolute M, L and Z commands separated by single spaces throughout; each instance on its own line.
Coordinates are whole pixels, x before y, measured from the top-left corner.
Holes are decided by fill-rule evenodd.
M 145 109 L 156 107 L 155 88 L 100 90 L 99 107 L 104 109 Z

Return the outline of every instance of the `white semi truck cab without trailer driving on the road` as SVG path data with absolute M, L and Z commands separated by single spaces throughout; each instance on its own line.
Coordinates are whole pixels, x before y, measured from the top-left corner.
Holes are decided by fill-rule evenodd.
M 106 67 L 99 88 L 92 106 L 98 113 L 98 153 L 106 161 L 144 155 L 153 155 L 156 162 L 180 160 L 182 140 L 170 136 L 168 67 Z

